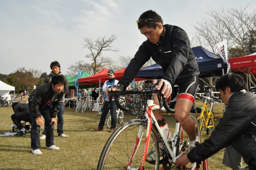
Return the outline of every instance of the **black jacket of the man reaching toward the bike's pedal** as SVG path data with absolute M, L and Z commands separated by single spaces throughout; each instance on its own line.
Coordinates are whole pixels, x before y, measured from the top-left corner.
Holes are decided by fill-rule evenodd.
M 211 136 L 188 153 L 191 162 L 200 162 L 232 144 L 250 170 L 256 170 L 256 95 L 236 91 L 229 100 L 221 122 Z

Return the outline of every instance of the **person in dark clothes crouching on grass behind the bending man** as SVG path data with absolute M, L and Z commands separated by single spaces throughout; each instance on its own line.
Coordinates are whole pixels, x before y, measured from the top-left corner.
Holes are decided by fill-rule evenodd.
M 11 115 L 11 119 L 17 128 L 21 131 L 18 136 L 27 134 L 29 131 L 22 125 L 21 121 L 29 122 L 29 124 L 32 123 L 31 117 L 29 115 L 28 104 L 14 102 L 12 104 L 12 109 L 14 114 Z

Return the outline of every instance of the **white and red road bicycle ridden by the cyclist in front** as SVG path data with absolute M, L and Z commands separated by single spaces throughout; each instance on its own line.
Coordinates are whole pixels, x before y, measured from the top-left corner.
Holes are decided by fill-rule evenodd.
M 163 87 L 163 86 L 162 86 Z M 167 105 L 166 99 L 161 97 L 161 91 L 152 89 L 142 90 L 130 90 L 122 92 L 110 92 L 110 95 L 115 96 L 115 103 L 121 110 L 128 110 L 128 108 L 122 107 L 119 101 L 119 95 L 124 94 L 143 94 L 145 100 L 147 100 L 147 106 L 145 115 L 141 115 L 136 119 L 129 120 L 121 124 L 112 135 L 110 135 L 106 142 L 99 162 L 97 164 L 97 170 L 148 170 L 148 169 L 199 169 L 200 164 L 189 163 L 187 166 L 174 165 L 176 158 L 180 154 L 186 154 L 189 149 L 189 138 L 185 131 L 183 131 L 180 123 L 176 121 L 175 131 L 170 140 L 167 141 L 163 135 L 163 131 L 160 129 L 155 116 L 152 114 L 153 110 L 167 110 L 174 113 L 174 109 L 170 109 Z M 154 93 L 157 93 L 157 98 L 160 101 L 160 106 L 153 104 Z M 161 101 L 162 98 L 162 101 Z M 164 106 L 164 108 L 162 107 Z M 196 127 L 196 135 L 198 139 L 201 139 L 200 129 L 197 118 L 194 114 L 190 114 L 193 118 Z M 153 128 L 154 127 L 154 128 Z M 163 146 L 165 155 L 159 156 L 159 142 L 160 138 Z M 155 148 L 155 161 L 146 162 L 146 155 Z M 207 159 L 202 161 L 203 170 L 208 169 Z

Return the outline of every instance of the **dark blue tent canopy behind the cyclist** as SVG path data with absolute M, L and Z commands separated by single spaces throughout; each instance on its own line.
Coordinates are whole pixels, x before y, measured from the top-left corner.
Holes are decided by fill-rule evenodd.
M 223 74 L 223 68 L 227 68 L 223 59 L 201 46 L 193 47 L 192 51 L 198 63 L 200 75 L 199 77 L 220 76 Z M 227 70 L 227 69 L 226 69 Z M 142 68 L 137 73 L 136 77 L 148 79 L 160 79 L 163 76 L 162 67 L 158 64 Z

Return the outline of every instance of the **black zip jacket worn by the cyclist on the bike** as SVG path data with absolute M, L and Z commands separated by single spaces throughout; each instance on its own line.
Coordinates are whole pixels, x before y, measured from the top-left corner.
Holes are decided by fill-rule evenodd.
M 160 36 L 161 43 L 153 44 L 146 40 L 139 47 L 118 83 L 122 84 L 124 89 L 150 57 L 162 67 L 164 73 L 162 79 L 168 80 L 171 84 L 174 84 L 176 79 L 199 75 L 198 64 L 187 33 L 180 27 L 168 24 L 164 25 L 163 29 L 164 34 Z

